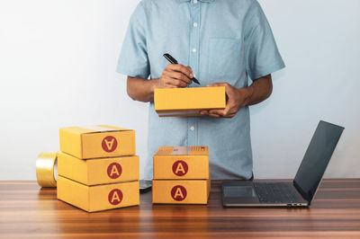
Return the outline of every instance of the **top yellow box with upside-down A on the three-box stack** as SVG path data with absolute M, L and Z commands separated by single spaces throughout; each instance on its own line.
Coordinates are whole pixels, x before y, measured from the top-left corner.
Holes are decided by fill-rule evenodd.
M 60 151 L 89 159 L 135 155 L 135 131 L 112 126 L 60 128 Z

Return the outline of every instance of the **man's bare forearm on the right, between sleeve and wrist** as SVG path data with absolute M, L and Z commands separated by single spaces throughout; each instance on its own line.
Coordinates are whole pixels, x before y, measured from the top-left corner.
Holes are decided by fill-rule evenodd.
M 254 105 L 264 102 L 273 93 L 273 81 L 271 75 L 258 78 L 247 88 L 238 89 L 240 93 L 247 95 L 246 105 Z

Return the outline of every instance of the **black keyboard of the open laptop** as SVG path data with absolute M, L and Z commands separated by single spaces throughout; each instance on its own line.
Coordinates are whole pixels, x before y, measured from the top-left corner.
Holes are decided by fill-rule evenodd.
M 255 182 L 257 197 L 262 203 L 298 203 L 303 199 L 289 182 Z

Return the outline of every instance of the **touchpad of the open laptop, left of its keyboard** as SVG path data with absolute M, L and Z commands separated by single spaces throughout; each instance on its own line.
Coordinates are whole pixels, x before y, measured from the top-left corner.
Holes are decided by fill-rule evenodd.
M 226 199 L 236 199 L 241 202 L 258 202 L 257 192 L 252 186 L 226 186 L 223 190 Z

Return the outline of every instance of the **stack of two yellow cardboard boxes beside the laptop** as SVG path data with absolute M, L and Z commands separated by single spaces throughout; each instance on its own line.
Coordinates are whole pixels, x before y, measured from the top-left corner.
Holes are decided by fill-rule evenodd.
M 163 146 L 154 155 L 153 203 L 207 204 L 211 180 L 207 146 Z

